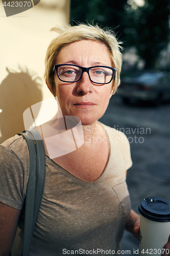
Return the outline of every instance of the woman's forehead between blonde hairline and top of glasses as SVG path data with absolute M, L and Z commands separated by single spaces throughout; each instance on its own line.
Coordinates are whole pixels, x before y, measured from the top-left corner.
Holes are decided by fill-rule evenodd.
M 111 66 L 110 52 L 107 46 L 98 41 L 93 40 L 79 40 L 72 42 L 71 44 L 64 46 L 56 59 L 56 64 L 60 63 L 75 63 L 80 62 L 96 63 L 96 65 Z

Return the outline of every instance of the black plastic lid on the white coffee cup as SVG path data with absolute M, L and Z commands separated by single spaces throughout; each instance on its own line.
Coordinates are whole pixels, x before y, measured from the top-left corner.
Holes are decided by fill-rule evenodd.
M 170 202 L 163 198 L 149 197 L 141 201 L 138 210 L 140 214 L 152 221 L 170 221 Z

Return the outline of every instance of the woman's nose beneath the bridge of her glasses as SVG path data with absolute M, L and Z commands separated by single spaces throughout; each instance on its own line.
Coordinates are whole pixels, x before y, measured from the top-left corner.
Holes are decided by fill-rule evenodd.
M 87 72 L 83 72 L 82 77 L 77 82 L 77 93 L 88 94 L 93 91 L 93 86 L 90 81 L 89 75 Z

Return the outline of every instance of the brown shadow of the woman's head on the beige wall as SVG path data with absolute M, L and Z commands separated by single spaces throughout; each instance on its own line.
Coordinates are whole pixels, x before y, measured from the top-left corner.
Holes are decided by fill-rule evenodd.
M 16 133 L 25 130 L 23 112 L 42 101 L 41 79 L 19 67 L 19 72 L 8 71 L 0 85 L 0 144 Z M 36 118 L 36 116 L 35 116 Z

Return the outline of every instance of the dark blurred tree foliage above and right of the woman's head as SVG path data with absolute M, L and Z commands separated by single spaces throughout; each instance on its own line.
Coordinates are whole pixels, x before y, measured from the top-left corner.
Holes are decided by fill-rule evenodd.
M 70 0 L 71 20 L 98 23 L 114 29 L 124 47 L 135 47 L 153 68 L 159 53 L 169 41 L 170 0 L 145 0 L 134 8 L 133 0 Z

